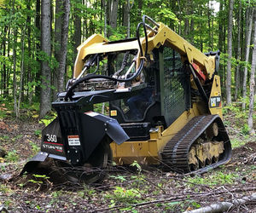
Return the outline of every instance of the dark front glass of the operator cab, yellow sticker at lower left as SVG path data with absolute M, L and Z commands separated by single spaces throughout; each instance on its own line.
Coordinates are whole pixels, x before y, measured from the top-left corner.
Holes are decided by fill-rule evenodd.
M 157 53 L 157 51 L 155 52 Z M 160 112 L 159 89 L 159 55 L 152 53 L 152 60 L 148 60 L 143 66 L 142 74 L 131 82 L 131 88 L 143 85 L 132 95 L 125 98 L 110 101 L 110 116 L 116 118 L 119 124 L 136 122 L 153 122 L 152 116 Z M 128 87 L 129 85 L 125 85 Z M 150 112 L 154 110 L 154 112 Z M 160 115 L 160 114 L 159 114 Z M 149 118 L 150 117 L 150 118 Z

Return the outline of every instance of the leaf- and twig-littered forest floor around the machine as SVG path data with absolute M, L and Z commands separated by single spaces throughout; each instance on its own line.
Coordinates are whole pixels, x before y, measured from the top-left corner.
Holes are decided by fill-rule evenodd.
M 33 113 L 32 113 L 33 114 Z M 0 211 L 10 212 L 183 212 L 215 202 L 229 201 L 256 192 L 256 137 L 247 135 L 243 116 L 226 110 L 233 154 L 229 164 L 201 176 L 180 176 L 158 168 L 122 167 L 108 171 L 102 184 L 54 184 L 47 176 L 22 176 L 27 158 L 38 152 L 38 120 L 16 122 L 0 118 Z M 256 204 L 235 205 L 229 212 L 256 212 Z

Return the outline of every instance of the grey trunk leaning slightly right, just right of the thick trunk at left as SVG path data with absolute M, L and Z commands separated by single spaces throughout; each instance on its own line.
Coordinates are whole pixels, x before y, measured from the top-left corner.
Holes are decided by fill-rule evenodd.
M 68 38 L 68 21 L 70 12 L 70 0 L 63 2 L 63 16 L 61 25 L 61 55 L 59 61 L 59 78 L 58 78 L 58 91 L 64 89 L 64 79 L 66 72 L 66 59 L 67 59 L 67 38 Z

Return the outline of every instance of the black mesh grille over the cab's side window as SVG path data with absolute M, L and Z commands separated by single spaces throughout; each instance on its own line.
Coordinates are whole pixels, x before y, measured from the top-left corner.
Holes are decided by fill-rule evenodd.
M 166 123 L 172 124 L 185 111 L 185 75 L 180 55 L 171 48 L 164 52 L 164 108 Z

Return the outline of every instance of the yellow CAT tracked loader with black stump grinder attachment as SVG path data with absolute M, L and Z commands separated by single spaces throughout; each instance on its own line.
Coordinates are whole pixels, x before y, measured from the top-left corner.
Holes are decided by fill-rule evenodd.
M 230 160 L 219 51 L 203 54 L 146 15 L 136 38 L 93 35 L 78 51 L 73 79 L 52 103 L 58 116 L 22 173 L 53 158 L 69 179 L 95 182 L 112 161 L 203 173 Z

